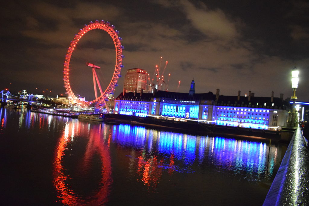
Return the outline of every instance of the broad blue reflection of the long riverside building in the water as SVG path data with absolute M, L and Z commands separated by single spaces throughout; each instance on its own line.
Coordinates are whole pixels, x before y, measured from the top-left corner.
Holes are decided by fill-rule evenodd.
M 175 162 L 174 167 L 177 163 L 185 168 L 205 164 L 217 172 L 244 174 L 248 180 L 273 175 L 277 158 L 277 147 L 272 145 L 268 162 L 269 145 L 262 142 L 161 132 L 127 124 L 120 124 L 117 129 L 115 126 L 112 138 L 121 145 L 142 149 L 142 157 L 146 159 L 158 153 L 166 163 L 168 159 Z

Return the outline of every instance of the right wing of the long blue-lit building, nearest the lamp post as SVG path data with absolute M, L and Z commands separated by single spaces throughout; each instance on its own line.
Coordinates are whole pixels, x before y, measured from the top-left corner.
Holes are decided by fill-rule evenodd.
M 255 97 L 249 91 L 249 96 L 220 95 L 216 105 L 216 124 L 239 126 L 247 128 L 268 129 L 287 125 L 290 105 L 280 98 Z

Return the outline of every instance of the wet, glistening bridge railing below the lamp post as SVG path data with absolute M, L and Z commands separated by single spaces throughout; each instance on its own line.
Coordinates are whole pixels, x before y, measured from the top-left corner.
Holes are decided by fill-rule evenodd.
M 298 127 L 263 206 L 309 205 L 309 151 Z

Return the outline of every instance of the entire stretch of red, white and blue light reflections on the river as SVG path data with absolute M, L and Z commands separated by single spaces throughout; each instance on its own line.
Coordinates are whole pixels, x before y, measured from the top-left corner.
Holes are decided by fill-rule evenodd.
M 61 204 L 107 204 L 114 201 L 115 190 L 128 187 L 126 184 L 158 192 L 160 185 L 179 174 L 219 174 L 236 181 L 267 182 L 281 160 L 278 145 L 269 148 L 265 142 L 107 125 L 4 108 L 0 109 L 1 133 L 7 115 L 14 114 L 19 129 L 60 133 L 55 137 L 52 168 Z M 126 182 L 119 186 L 118 179 Z

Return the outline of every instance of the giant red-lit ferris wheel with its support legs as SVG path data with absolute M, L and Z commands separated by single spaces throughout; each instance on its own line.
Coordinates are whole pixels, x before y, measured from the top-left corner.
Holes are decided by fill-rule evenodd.
M 80 100 L 72 91 L 70 80 L 69 80 L 70 60 L 71 60 L 72 53 L 74 52 L 74 48 L 77 45 L 78 41 L 87 32 L 94 30 L 94 29 L 102 29 L 112 37 L 112 40 L 115 45 L 115 50 L 116 50 L 116 65 L 115 65 L 112 79 L 110 83 L 108 84 L 107 88 L 103 91 L 99 84 L 96 73 L 95 73 L 95 69 L 99 69 L 100 67 L 87 62 L 87 65 L 92 67 L 93 84 L 94 84 L 94 89 L 95 89 L 95 99 L 86 102 L 86 101 Z M 109 22 L 105 22 L 104 20 L 101 20 L 101 21 L 96 20 L 95 22 L 90 22 L 88 25 L 86 24 L 83 27 L 83 29 L 80 29 L 78 34 L 75 34 L 75 37 L 73 41 L 71 41 L 70 47 L 68 48 L 68 51 L 66 53 L 66 59 L 64 61 L 64 69 L 63 69 L 64 86 L 66 88 L 66 92 L 69 95 L 69 99 L 71 103 L 77 103 L 78 105 L 81 105 L 81 106 L 89 106 L 89 105 L 95 105 L 95 104 L 105 104 L 106 105 L 105 101 L 107 100 L 107 96 L 109 94 L 113 94 L 115 86 L 118 86 L 117 81 L 118 81 L 118 78 L 121 77 L 120 71 L 121 71 L 121 68 L 124 67 L 122 65 L 122 58 L 124 58 L 124 55 L 122 54 L 122 49 L 124 49 L 124 47 L 121 45 L 121 42 L 120 42 L 122 38 L 119 37 L 118 34 L 119 32 L 115 30 L 115 26 L 111 25 Z M 101 95 L 99 96 L 97 95 L 95 80 L 97 81 L 97 84 L 100 90 Z

